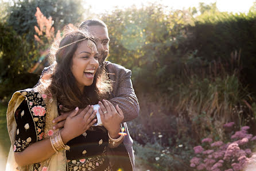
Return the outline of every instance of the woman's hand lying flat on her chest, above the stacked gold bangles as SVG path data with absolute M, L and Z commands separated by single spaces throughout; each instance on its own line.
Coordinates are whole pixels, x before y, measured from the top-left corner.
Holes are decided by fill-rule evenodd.
M 79 108 L 76 107 L 76 109 L 69 114 L 65 121 L 64 128 L 61 130 L 60 134 L 64 143 L 83 134 L 96 122 L 94 117 L 97 111 L 94 110 L 93 106 L 87 106 L 80 114 L 76 115 L 78 111 Z

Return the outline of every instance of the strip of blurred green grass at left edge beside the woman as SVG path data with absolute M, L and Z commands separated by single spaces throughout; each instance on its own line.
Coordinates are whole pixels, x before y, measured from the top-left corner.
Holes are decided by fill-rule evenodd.
M 10 150 L 10 138 L 6 126 L 7 106 L 0 103 L 0 168 L 5 168 Z

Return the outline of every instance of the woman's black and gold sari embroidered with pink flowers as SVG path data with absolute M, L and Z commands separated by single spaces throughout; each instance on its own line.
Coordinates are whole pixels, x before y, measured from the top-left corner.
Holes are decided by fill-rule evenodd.
M 40 94 L 33 89 L 13 94 L 7 109 L 11 147 L 6 170 L 111 170 L 106 157 L 107 131 L 96 127 L 87 130 L 86 137 L 80 135 L 69 141 L 70 151 L 61 150 L 40 163 L 18 166 L 14 152 L 21 152 L 32 143 L 59 131 L 52 130 L 52 120 L 57 116 L 57 100 L 51 95 Z

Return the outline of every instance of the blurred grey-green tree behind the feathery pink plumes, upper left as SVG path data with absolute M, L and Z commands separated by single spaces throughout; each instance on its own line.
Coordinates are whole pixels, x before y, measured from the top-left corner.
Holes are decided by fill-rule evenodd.
M 53 27 L 61 30 L 64 25 L 80 22 L 83 17 L 83 0 L 13 0 L 9 7 L 10 13 L 7 23 L 19 35 L 25 35 L 26 40 L 34 40 L 34 26 L 37 20 L 34 14 L 39 7 L 46 18 L 53 18 Z

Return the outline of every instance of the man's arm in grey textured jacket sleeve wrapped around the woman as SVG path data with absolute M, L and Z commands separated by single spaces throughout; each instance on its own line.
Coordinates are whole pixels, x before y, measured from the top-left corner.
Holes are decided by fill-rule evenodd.
M 112 64 L 107 61 L 107 72 L 113 81 L 113 92 L 109 100 L 114 106 L 118 104 L 124 114 L 123 122 L 137 118 L 139 114 L 139 103 L 131 83 L 131 71 L 121 65 Z

